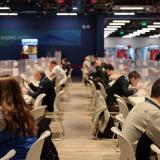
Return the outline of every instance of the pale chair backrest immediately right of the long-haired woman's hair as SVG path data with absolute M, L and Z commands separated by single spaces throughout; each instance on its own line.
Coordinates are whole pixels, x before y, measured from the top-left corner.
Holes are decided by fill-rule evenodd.
M 40 106 L 31 110 L 31 114 L 33 115 L 35 120 L 44 116 L 44 111 L 47 106 Z

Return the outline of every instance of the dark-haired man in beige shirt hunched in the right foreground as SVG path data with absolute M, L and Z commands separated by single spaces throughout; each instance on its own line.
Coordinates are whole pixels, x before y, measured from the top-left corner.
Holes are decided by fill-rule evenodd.
M 151 97 L 134 106 L 123 125 L 122 132 L 133 145 L 137 160 L 149 160 L 150 144 L 160 147 L 159 124 L 160 79 L 154 82 Z

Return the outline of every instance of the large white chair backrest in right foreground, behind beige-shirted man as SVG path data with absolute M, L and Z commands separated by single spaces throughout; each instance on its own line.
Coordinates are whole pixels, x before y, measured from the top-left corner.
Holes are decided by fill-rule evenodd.
M 129 140 L 122 134 L 122 132 L 116 128 L 112 127 L 111 131 L 117 135 L 119 146 L 120 146 L 120 160 L 136 160 L 135 152 Z

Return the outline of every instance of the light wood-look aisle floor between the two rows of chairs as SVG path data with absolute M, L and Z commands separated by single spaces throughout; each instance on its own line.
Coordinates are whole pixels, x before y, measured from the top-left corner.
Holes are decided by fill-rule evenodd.
M 75 82 L 68 88 L 64 101 L 64 140 L 54 141 L 60 160 L 118 160 L 116 140 L 92 140 L 90 99 L 85 87 Z M 54 130 L 54 124 L 51 124 Z

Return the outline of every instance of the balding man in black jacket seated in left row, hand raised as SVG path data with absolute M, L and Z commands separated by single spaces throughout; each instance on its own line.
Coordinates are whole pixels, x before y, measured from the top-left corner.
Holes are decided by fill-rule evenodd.
M 53 112 L 53 102 L 55 99 L 55 89 L 53 82 L 45 75 L 42 70 L 36 70 L 34 72 L 34 79 L 40 81 L 39 86 L 36 87 L 32 83 L 29 83 L 29 87 L 34 91 L 28 91 L 28 94 L 33 98 L 36 98 L 41 93 L 45 93 L 46 96 L 43 98 L 42 105 L 47 105 L 46 110 L 48 112 Z

